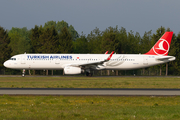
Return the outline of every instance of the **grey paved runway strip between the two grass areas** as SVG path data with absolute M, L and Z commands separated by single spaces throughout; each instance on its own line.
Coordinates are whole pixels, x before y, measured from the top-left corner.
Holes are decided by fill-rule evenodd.
M 0 88 L 0 95 L 179 96 L 180 89 Z

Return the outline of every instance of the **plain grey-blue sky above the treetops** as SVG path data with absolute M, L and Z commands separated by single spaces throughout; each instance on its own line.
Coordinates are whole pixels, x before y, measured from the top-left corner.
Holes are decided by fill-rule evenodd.
M 155 33 L 161 26 L 180 32 L 180 0 L 1 0 L 0 26 L 34 28 L 47 21 L 66 21 L 81 35 L 96 27 Z

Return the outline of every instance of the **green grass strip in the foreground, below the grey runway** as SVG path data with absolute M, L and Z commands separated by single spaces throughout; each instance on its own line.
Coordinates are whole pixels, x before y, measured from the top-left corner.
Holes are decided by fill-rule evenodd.
M 180 119 L 180 97 L 0 96 L 0 119 Z

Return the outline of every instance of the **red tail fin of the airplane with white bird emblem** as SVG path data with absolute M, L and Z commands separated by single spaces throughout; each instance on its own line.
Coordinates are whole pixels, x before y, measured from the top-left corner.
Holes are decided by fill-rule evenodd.
M 165 32 L 145 55 L 168 55 L 173 32 Z

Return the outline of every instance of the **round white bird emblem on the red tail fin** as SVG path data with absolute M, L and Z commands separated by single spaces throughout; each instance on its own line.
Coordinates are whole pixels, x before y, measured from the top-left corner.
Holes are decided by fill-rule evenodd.
M 153 51 L 157 55 L 165 55 L 169 51 L 169 43 L 165 39 L 160 39 L 153 47 Z

